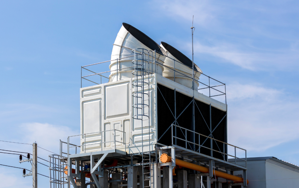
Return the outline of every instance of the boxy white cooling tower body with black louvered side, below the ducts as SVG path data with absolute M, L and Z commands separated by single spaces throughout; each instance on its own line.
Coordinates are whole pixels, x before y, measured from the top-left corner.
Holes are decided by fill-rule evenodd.
M 116 140 L 126 142 L 127 153 L 138 153 L 141 151 L 141 141 L 144 144 L 150 140 L 152 144 L 171 145 L 171 129 L 168 130 L 163 137 L 161 135 L 171 125 L 174 120 L 172 113 L 174 113 L 174 89 L 176 89 L 176 113 L 180 114 L 184 108 L 190 103 L 193 96 L 193 90 L 181 84 L 178 84 L 170 79 L 164 78 L 159 74 L 153 74 L 149 77 L 149 90 L 144 90 L 145 93 L 150 93 L 150 122 L 149 127 L 143 128 L 143 135 L 141 133 L 141 124 L 136 123 L 132 119 L 132 94 L 134 87 L 132 87 L 133 79 L 125 79 L 117 82 L 109 82 L 91 87 L 80 89 L 80 115 L 81 115 L 81 134 L 94 133 L 98 131 L 120 130 L 126 132 L 124 134 L 117 133 Z M 168 104 L 166 104 L 164 98 Z M 213 98 L 203 95 L 197 91 L 194 92 L 196 104 L 202 113 L 205 121 L 209 123 L 209 104 L 212 110 L 212 128 L 220 121 L 223 115 L 226 114 L 227 105 L 223 104 Z M 146 98 L 145 100 L 147 100 Z M 169 109 L 170 108 L 170 109 Z M 178 118 L 178 124 L 181 127 L 190 129 L 192 125 L 192 116 L 190 105 Z M 208 136 L 208 128 L 205 124 L 199 110 L 195 110 L 195 131 Z M 213 133 L 217 140 L 227 142 L 226 118 L 218 125 Z M 148 134 L 150 131 L 150 134 Z M 182 137 L 177 131 L 177 136 Z M 86 136 L 86 144 L 95 143 L 94 145 L 86 146 L 86 152 L 100 151 L 101 139 L 104 142 L 113 141 L 114 136 L 112 132 L 105 134 L 88 134 Z M 198 139 L 198 137 L 196 138 Z M 201 142 L 204 137 L 200 138 Z M 191 137 L 188 135 L 188 140 Z M 81 137 L 81 145 L 84 145 L 84 136 Z M 210 142 L 206 142 L 204 146 L 209 147 Z M 177 145 L 184 146 L 185 143 L 178 141 Z M 103 150 L 113 149 L 114 143 L 103 144 Z M 189 147 L 189 146 L 188 146 Z M 123 150 L 124 144 L 117 143 L 116 148 Z M 216 145 L 213 145 L 217 149 Z M 152 145 L 151 150 L 154 150 Z M 148 147 L 144 147 L 144 151 Z M 201 149 L 201 152 L 209 155 L 208 149 Z M 220 151 L 223 151 L 220 147 Z M 227 152 L 225 150 L 225 152 Z M 84 153 L 83 147 L 81 153 Z M 217 153 L 213 153 L 216 158 L 221 158 Z

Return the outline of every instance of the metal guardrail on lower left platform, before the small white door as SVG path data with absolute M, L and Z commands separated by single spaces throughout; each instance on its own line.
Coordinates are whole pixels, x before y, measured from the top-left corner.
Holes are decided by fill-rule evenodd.
M 109 131 L 113 131 L 114 132 L 114 134 L 112 133 L 112 135 L 114 135 L 114 140 L 110 140 L 110 141 L 107 141 L 107 142 L 103 142 L 103 134 L 104 133 L 106 133 L 106 132 L 109 132 Z M 116 129 L 112 129 L 112 130 L 107 130 L 107 131 L 99 131 L 99 132 L 94 132 L 94 133 L 88 133 L 88 134 L 78 134 L 78 135 L 74 135 L 74 136 L 69 136 L 68 137 L 68 153 L 67 153 L 67 155 L 70 155 L 70 152 L 69 152 L 69 150 L 70 150 L 70 148 L 76 148 L 76 153 L 77 153 L 77 147 L 83 147 L 84 148 L 84 153 L 86 153 L 86 146 L 89 146 L 89 145 L 94 145 L 94 144 L 101 144 L 101 151 L 103 151 L 103 144 L 104 143 L 108 143 L 108 142 L 114 142 L 114 147 L 115 147 L 115 149 L 116 149 L 116 142 L 119 142 L 119 143 L 121 143 L 121 144 L 124 144 L 125 145 L 125 151 L 126 151 L 126 132 L 124 132 L 124 131 L 119 131 L 119 132 L 121 132 L 121 133 L 123 133 L 124 134 L 124 142 L 120 142 L 120 141 L 117 141 L 116 139 L 115 139 L 115 137 L 116 137 L 116 132 L 117 131 L 119 131 L 119 130 L 116 130 Z M 100 142 L 97 142 L 97 143 L 91 143 L 91 144 L 86 144 L 86 135 L 89 135 L 89 134 L 101 134 L 101 141 Z M 74 144 L 70 144 L 70 137 L 76 137 L 76 136 L 82 136 L 82 135 L 84 135 L 84 144 L 83 145 L 74 145 Z M 70 145 L 73 145 L 73 146 L 70 146 Z M 113 146 L 112 146 L 113 147 Z

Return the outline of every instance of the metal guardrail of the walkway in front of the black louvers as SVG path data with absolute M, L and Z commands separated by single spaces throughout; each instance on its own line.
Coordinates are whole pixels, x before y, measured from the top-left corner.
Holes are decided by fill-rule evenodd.
M 173 127 L 180 128 L 181 131 L 182 131 L 182 129 L 184 129 L 184 130 L 185 130 L 185 131 L 184 131 L 185 133 L 184 133 L 183 131 L 182 131 L 182 133 L 183 133 L 183 135 L 184 135 L 185 138 L 182 139 L 182 138 L 176 137 L 176 135 L 174 136 L 174 135 L 173 135 L 173 134 L 174 134 L 174 132 L 173 132 Z M 193 133 L 193 134 L 197 134 L 197 135 L 198 135 L 198 143 L 191 142 L 191 141 L 187 140 L 187 131 L 189 131 L 189 132 L 191 132 L 191 133 Z M 214 140 L 216 144 L 217 144 L 217 142 L 221 142 L 221 143 L 223 144 L 223 152 L 221 152 L 221 151 L 217 151 L 217 150 L 214 150 L 214 149 L 212 149 L 212 148 L 208 148 L 208 147 L 205 147 L 205 146 L 201 145 L 201 144 L 200 144 L 200 137 L 201 137 L 201 136 L 202 136 L 202 137 L 205 137 L 206 140 L 207 140 L 207 139 Z M 245 165 L 246 165 L 245 167 L 247 168 L 247 151 L 246 151 L 245 149 L 243 149 L 243 148 L 239 148 L 239 147 L 237 147 L 237 146 L 235 146 L 235 145 L 231 145 L 231 144 L 228 144 L 228 143 L 226 143 L 226 142 L 222 142 L 222 141 L 220 141 L 220 140 L 216 140 L 216 139 L 214 139 L 214 138 L 212 138 L 212 137 L 205 136 L 205 135 L 203 135 L 203 134 L 197 133 L 197 132 L 195 132 L 195 131 L 191 131 L 191 130 L 189 130 L 189 129 L 186 129 L 186 128 L 180 127 L 179 125 L 174 125 L 174 124 L 171 124 L 171 137 L 172 137 L 172 139 L 171 139 L 171 141 L 172 141 L 171 143 L 172 143 L 172 144 L 173 144 L 173 139 L 179 139 L 179 140 L 185 141 L 185 143 L 186 143 L 186 148 L 187 148 L 187 144 L 194 144 L 194 145 L 199 146 L 199 151 L 198 151 L 199 153 L 200 153 L 200 148 L 203 147 L 203 148 L 207 148 L 207 149 L 209 149 L 209 150 L 211 150 L 211 151 L 215 151 L 215 152 L 221 153 L 222 156 L 223 156 L 223 160 L 225 160 L 225 155 L 226 155 L 226 156 L 234 157 L 234 158 L 235 158 L 235 164 L 237 164 L 237 159 L 242 160 L 242 161 L 245 161 Z M 217 142 L 216 142 L 216 141 L 217 141 Z M 234 150 L 235 150 L 235 155 L 234 155 L 234 156 L 233 156 L 233 155 L 230 155 L 230 154 L 227 154 L 227 153 L 224 152 L 224 151 L 225 151 L 225 145 L 230 145 L 230 146 L 234 147 Z M 217 146 L 218 146 L 218 144 L 217 144 Z M 219 146 L 218 146 L 218 148 L 219 148 Z M 242 159 L 242 158 L 237 157 L 236 148 L 245 151 L 245 159 Z M 219 150 L 220 150 L 220 148 L 219 148 Z

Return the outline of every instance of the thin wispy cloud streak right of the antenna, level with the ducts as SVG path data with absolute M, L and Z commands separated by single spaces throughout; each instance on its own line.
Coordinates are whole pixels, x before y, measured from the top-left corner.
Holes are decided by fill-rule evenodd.
M 242 45 L 236 46 L 230 43 L 219 43 L 214 41 L 213 46 L 206 46 L 199 42 L 194 43 L 194 52 L 199 54 L 209 54 L 219 57 L 221 62 L 231 63 L 244 69 L 252 71 L 273 71 L 277 69 L 285 69 L 290 71 L 291 67 L 298 67 L 298 51 L 296 50 L 270 50 L 263 52 L 254 52 L 251 50 L 241 50 Z M 187 44 L 191 46 L 191 44 Z M 189 47 L 190 48 L 190 47 Z

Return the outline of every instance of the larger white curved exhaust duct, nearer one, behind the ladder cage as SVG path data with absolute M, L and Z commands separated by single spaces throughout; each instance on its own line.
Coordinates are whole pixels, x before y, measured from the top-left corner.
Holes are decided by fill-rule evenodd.
M 158 61 L 161 64 L 164 63 L 164 60 L 166 58 L 165 57 L 166 52 L 161 48 L 160 45 L 158 45 L 154 40 L 149 38 L 146 34 L 139 31 L 132 25 L 123 23 L 113 44 L 113 49 L 111 54 L 111 60 L 113 61 L 111 61 L 109 66 L 111 70 L 111 74 L 109 76 L 109 82 L 132 78 L 132 69 L 134 69 L 134 67 L 131 66 L 132 66 L 132 58 L 134 59 L 134 57 L 128 57 L 128 56 L 132 55 L 132 49 L 135 48 L 144 48 L 147 49 L 148 51 L 156 50 L 157 52 L 164 54 L 161 55 L 159 53 L 156 53 L 156 61 Z M 141 52 L 142 50 L 137 49 L 136 51 Z M 155 54 L 153 53 L 153 58 L 155 58 L 154 55 Z M 127 57 L 127 58 L 123 58 L 123 57 Z M 119 58 L 123 58 L 123 59 L 118 60 L 117 63 L 116 59 Z M 146 55 L 146 59 L 147 58 L 148 56 Z M 150 59 L 152 58 L 151 54 L 149 58 Z M 118 64 L 118 69 L 120 69 L 118 71 L 116 71 L 117 64 Z M 152 67 L 154 69 L 155 64 L 152 65 L 152 63 L 149 63 L 149 71 L 155 73 L 155 70 L 152 71 Z M 146 70 L 148 70 L 148 67 L 146 67 Z M 157 63 L 156 73 L 162 75 L 163 70 L 164 70 L 163 66 Z

